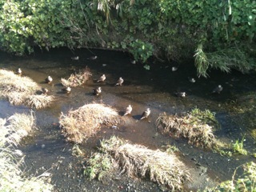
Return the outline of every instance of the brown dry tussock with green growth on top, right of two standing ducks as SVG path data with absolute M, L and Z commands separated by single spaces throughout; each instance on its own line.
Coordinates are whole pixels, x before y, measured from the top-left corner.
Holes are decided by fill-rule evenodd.
M 213 134 L 214 128 L 218 127 L 218 121 L 209 110 L 195 109 L 182 117 L 162 113 L 156 124 L 162 133 L 187 138 L 195 146 L 216 149 L 219 145 Z

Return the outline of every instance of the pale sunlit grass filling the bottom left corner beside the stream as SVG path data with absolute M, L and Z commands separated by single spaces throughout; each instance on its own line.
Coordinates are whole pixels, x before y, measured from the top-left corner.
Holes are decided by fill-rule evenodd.
M 52 191 L 53 186 L 44 178 L 24 177 L 20 166 L 24 165 L 22 151 L 16 150 L 21 138 L 34 126 L 34 115 L 14 114 L 0 118 L 0 191 Z

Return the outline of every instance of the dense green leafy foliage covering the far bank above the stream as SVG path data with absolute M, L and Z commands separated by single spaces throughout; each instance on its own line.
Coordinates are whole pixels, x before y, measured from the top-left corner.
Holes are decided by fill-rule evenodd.
M 250 0 L 0 0 L 0 5 L 1 48 L 16 54 L 31 53 L 35 45 L 95 46 L 128 50 L 141 62 L 151 55 L 180 61 L 198 47 L 198 74 L 206 76 L 208 66 L 245 72 L 248 52 L 255 52 L 243 50 L 255 41 L 256 2 Z M 230 66 L 233 56 L 225 53 L 234 45 L 243 51 Z M 223 55 L 224 62 L 214 61 Z M 212 60 L 206 63 L 205 57 Z

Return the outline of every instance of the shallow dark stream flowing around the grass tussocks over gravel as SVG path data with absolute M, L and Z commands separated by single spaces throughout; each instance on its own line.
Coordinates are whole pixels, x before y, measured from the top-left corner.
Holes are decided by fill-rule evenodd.
M 89 61 L 92 55 L 98 55 L 97 60 Z M 70 58 L 79 56 L 78 61 Z M 133 106 L 131 116 L 124 118 L 125 124 L 119 130 L 103 128 L 95 137 L 90 138 L 81 146 L 86 156 L 95 150 L 98 140 L 118 135 L 120 138 L 142 144 L 150 149 L 159 149 L 165 145 L 175 145 L 181 151 L 178 153 L 183 162 L 190 167 L 192 182 L 187 183 L 189 190 L 202 189 L 211 186 L 214 182 L 230 179 L 235 167 L 244 162 L 255 161 L 250 156 L 223 157 L 208 150 L 190 146 L 183 139 L 174 139 L 157 132 L 155 120 L 158 114 L 180 114 L 198 107 L 201 110 L 211 110 L 216 113 L 222 130 L 217 137 L 227 143 L 242 138 L 246 133 L 246 149 L 254 152 L 254 140 L 250 137 L 248 127 L 234 123 L 230 115 L 230 107 L 236 105 L 239 95 L 255 93 L 255 74 L 240 74 L 232 71 L 231 74 L 211 71 L 210 78 L 196 78 L 193 61 L 178 66 L 177 63 L 158 62 L 151 59 L 150 70 L 145 70 L 142 64 L 132 64 L 130 55 L 121 52 L 106 50 L 67 50 L 58 49 L 50 52 L 37 51 L 27 57 L 14 57 L 0 53 L 0 67 L 8 70 L 22 68 L 22 75 L 32 78 L 39 85 L 50 90 L 56 97 L 52 106 L 44 110 L 35 111 L 38 130 L 30 137 L 24 139 L 21 150 L 26 154 L 26 169 L 30 174 L 42 174 L 49 170 L 52 183 L 58 191 L 161 191 L 154 183 L 131 179 L 122 176 L 121 180 L 110 183 L 88 181 L 81 176 L 82 159 L 72 156 L 71 143 L 65 141 L 58 127 L 58 117 L 61 112 L 76 109 L 86 103 L 103 102 L 114 106 L 120 111 L 129 104 Z M 106 65 L 102 65 L 106 64 Z M 71 94 L 62 94 L 60 90 L 61 78 L 68 78 L 74 71 L 89 67 L 93 76 L 82 86 L 72 88 Z M 172 71 L 172 66 L 178 66 Z M 95 82 L 102 74 L 106 74 L 106 82 Z M 46 85 L 44 79 L 48 76 L 54 78 L 52 85 Z M 114 86 L 119 77 L 124 78 L 123 86 Z M 188 77 L 196 78 L 195 83 L 188 81 Z M 221 94 L 211 94 L 214 87 L 221 84 L 224 88 Z M 94 97 L 91 90 L 96 86 L 102 87 L 102 95 Z M 186 98 L 177 98 L 176 91 L 186 91 Z M 137 121 L 143 110 L 150 108 L 149 121 Z M 8 118 L 15 112 L 30 111 L 25 106 L 10 106 L 5 100 L 0 101 L 0 118 Z M 200 174 L 196 163 L 207 167 L 206 174 Z M 206 179 L 209 179 L 207 182 Z

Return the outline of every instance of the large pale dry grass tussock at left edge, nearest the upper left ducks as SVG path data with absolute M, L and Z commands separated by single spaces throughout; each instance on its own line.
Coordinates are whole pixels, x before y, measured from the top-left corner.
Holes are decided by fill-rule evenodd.
M 35 109 L 49 106 L 54 97 L 35 94 L 40 87 L 28 77 L 21 77 L 9 70 L 0 70 L 0 96 L 12 105 L 26 105 Z

